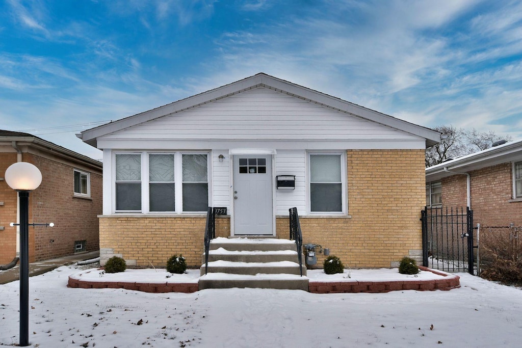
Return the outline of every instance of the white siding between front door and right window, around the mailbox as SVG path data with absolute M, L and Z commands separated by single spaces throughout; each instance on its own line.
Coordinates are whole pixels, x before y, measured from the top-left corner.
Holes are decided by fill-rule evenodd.
M 276 214 L 287 215 L 288 209 L 296 207 L 299 214 L 306 214 L 306 152 L 277 151 L 276 175 L 295 175 L 293 191 L 276 190 Z M 274 178 L 275 181 L 275 178 Z

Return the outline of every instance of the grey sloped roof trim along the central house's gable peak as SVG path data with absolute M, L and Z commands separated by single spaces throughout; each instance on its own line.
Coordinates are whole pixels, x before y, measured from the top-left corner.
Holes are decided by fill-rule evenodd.
M 222 98 L 227 98 L 231 95 L 259 87 L 286 93 L 292 97 L 319 104 L 327 107 L 328 109 L 337 110 L 351 116 L 360 117 L 362 119 L 366 119 L 367 121 L 372 121 L 390 128 L 410 133 L 415 136 L 419 136 L 421 138 L 425 138 L 426 147 L 431 147 L 441 141 L 441 134 L 435 130 L 418 126 L 401 119 L 379 113 L 377 111 L 366 109 L 363 106 L 359 106 L 339 98 L 331 97 L 328 94 L 295 85 L 294 83 L 284 81 L 263 73 L 259 73 L 243 80 L 230 83 L 229 85 L 194 95 L 193 97 L 185 98 L 167 105 L 157 107 L 156 109 L 82 131 L 81 134 L 77 135 L 77 137 L 89 145 L 97 147 L 98 137 L 102 137 L 159 117 L 179 113 L 199 105 L 203 105 Z

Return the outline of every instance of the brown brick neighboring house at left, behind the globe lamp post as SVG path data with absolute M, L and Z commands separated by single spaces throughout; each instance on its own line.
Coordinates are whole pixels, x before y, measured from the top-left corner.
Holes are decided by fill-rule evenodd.
M 40 187 L 29 197 L 29 261 L 99 249 L 98 214 L 102 211 L 102 163 L 31 134 L 0 130 L 0 265 L 19 250 L 18 194 L 4 181 L 15 162 L 42 172 Z

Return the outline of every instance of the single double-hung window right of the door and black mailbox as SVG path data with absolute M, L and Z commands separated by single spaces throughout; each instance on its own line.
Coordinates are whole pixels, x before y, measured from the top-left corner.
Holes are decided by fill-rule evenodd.
M 346 174 L 343 174 L 345 171 L 342 158 L 340 153 L 310 154 L 311 213 L 342 213 L 345 211 Z

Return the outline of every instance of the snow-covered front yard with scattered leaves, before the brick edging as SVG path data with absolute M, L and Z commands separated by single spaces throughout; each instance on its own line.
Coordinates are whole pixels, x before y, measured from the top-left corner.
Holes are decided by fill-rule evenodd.
M 519 347 L 522 337 L 522 291 L 467 273 L 450 291 L 150 294 L 67 288 L 79 271 L 68 266 L 30 278 L 32 346 Z M 351 277 L 356 271 L 365 272 Z M 0 345 L 18 344 L 18 291 L 19 282 L 0 285 Z

